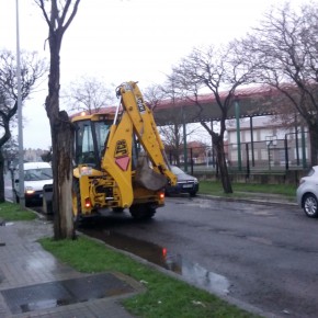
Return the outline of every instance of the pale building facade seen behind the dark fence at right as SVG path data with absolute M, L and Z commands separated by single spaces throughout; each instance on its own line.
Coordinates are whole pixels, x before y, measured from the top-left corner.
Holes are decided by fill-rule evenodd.
M 284 127 L 273 116 L 230 121 L 227 126 L 229 167 L 282 169 L 309 162 L 309 138 L 306 127 Z

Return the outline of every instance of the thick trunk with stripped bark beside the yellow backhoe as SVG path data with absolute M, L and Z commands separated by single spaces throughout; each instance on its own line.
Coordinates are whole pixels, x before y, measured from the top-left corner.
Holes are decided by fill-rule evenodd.
M 72 184 L 72 128 L 65 111 L 59 111 L 59 48 L 55 36 L 50 38 L 50 69 L 48 78 L 48 95 L 45 101 L 50 124 L 53 151 L 53 213 L 54 238 L 73 239 L 75 227 L 71 208 Z M 61 41 L 61 38 L 60 38 Z

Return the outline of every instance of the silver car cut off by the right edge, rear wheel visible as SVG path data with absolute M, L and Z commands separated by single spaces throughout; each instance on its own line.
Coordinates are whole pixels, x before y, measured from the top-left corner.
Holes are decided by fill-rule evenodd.
M 307 177 L 300 179 L 296 197 L 307 216 L 318 217 L 318 166 L 314 166 Z

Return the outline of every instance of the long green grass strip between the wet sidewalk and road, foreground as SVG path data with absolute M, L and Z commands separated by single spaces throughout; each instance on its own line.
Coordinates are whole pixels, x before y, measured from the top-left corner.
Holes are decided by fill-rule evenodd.
M 80 272 L 121 272 L 143 282 L 145 293 L 122 300 L 125 308 L 138 317 L 259 317 L 109 249 L 102 242 L 81 236 L 77 240 L 59 241 L 44 238 L 39 242 Z

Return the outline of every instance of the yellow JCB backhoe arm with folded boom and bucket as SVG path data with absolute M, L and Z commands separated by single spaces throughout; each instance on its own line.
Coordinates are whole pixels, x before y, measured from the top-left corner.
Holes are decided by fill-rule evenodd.
M 177 183 L 175 175 L 169 169 L 164 155 L 163 144 L 159 136 L 151 110 L 144 102 L 136 82 L 126 82 L 118 87 L 117 95 L 121 96 L 123 113 L 117 122 L 116 112 L 114 124 L 105 141 L 105 155 L 102 159 L 102 169 L 107 171 L 115 180 L 121 192 L 121 206 L 128 207 L 134 201 L 133 189 L 133 132 L 143 145 L 151 168 L 145 157 L 136 169 L 135 181 L 146 189 L 158 191 L 167 182 Z

